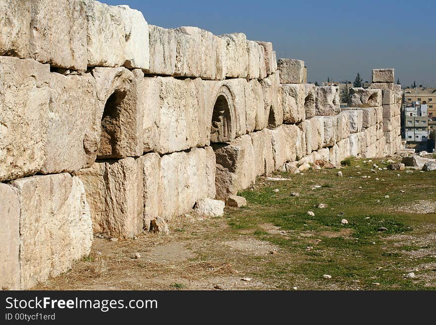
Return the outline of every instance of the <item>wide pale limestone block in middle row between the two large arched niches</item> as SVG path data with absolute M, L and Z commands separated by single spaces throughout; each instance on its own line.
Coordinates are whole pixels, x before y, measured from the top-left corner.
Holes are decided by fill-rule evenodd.
M 206 108 L 205 85 L 200 78 L 175 79 L 171 77 L 144 78 L 141 97 L 144 122 L 144 151 L 161 154 L 186 150 L 209 144 L 213 103 Z M 218 83 L 218 82 L 213 82 Z M 219 87 L 207 88 L 211 93 Z M 242 93 L 244 87 L 242 86 Z M 242 95 L 240 95 L 242 97 Z M 245 121 L 245 106 L 244 106 Z M 245 124 L 243 133 L 245 134 Z

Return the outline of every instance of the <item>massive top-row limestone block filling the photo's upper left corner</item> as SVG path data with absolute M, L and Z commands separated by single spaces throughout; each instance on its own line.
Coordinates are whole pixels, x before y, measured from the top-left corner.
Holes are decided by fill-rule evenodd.
M 0 17 L 0 55 L 86 70 L 83 1 L 3 0 Z

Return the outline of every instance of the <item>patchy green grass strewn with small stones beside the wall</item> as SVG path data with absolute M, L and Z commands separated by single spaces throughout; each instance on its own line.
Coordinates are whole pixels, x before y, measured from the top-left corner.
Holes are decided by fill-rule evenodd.
M 346 159 L 343 178 L 337 170 L 311 170 L 304 175 L 285 175 L 289 182 L 258 180 L 257 189 L 241 191 L 247 199 L 246 209 L 234 209 L 227 214 L 231 231 L 252 231 L 258 239 L 278 245 L 285 253 L 293 254 L 295 261 L 274 262 L 253 276 L 275 279 L 282 288 L 295 283 L 299 288 L 317 289 L 354 287 L 363 289 L 435 289 L 433 280 L 406 279 L 404 273 L 417 265 L 436 259 L 429 256 L 410 257 L 405 252 L 422 248 L 412 242 L 395 243 L 394 235 L 425 235 L 435 232 L 435 214 L 401 212 L 404 206 L 417 200 L 436 200 L 435 172 L 404 171 L 371 172 L 373 164 L 384 167 L 384 161 L 364 163 L 363 160 Z M 356 167 L 357 166 L 357 167 Z M 359 174 L 360 173 L 360 174 Z M 397 176 L 400 174 L 400 177 Z M 362 178 L 363 175 L 371 178 Z M 379 181 L 376 181 L 379 178 Z M 312 190 L 314 185 L 322 187 Z M 280 191 L 275 193 L 273 190 Z M 402 192 L 404 191 L 404 193 Z M 300 196 L 291 196 L 299 192 Z M 389 198 L 384 198 L 389 195 Z M 326 209 L 319 209 L 326 203 Z M 315 216 L 309 216 L 313 211 Z M 348 224 L 342 225 L 341 220 Z M 287 235 L 266 232 L 263 224 L 272 224 L 286 231 Z M 379 231 L 381 227 L 386 231 Z M 334 234 L 326 236 L 325 232 Z M 302 236 L 309 233 L 311 236 Z M 319 239 L 319 242 L 315 242 Z M 308 250 L 306 247 L 312 246 Z M 431 242 L 424 247 L 436 249 Z M 380 270 L 379 270 L 380 269 Z M 383 271 L 387 270 L 387 271 Z M 329 274 L 332 279 L 323 279 Z M 306 282 L 299 279 L 308 279 Z M 380 285 L 373 283 L 378 282 Z M 327 286 L 328 285 L 330 286 Z

